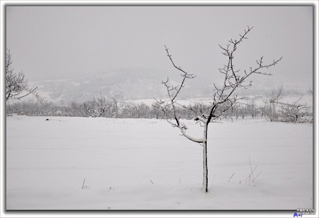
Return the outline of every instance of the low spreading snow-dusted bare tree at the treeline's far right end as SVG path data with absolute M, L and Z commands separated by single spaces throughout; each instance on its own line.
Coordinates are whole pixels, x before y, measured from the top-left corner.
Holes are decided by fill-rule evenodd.
M 299 99 L 292 104 L 281 103 L 282 113 L 288 117 L 292 117 L 295 124 L 297 123 L 298 118 L 311 115 L 311 112 L 309 111 L 310 107 L 307 106 L 307 104 L 299 103 L 301 99 L 302 96 L 299 97 Z

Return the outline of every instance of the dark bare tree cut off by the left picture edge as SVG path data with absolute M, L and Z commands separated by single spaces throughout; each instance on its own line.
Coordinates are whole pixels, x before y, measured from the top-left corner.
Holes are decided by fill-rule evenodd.
M 28 85 L 28 80 L 25 78 L 24 73 L 14 72 L 14 68 L 12 67 L 12 57 L 10 53 L 10 49 L 7 49 L 6 53 L 6 100 L 16 98 L 20 99 L 33 93 L 35 89 L 30 89 Z M 23 94 L 23 92 L 26 92 Z

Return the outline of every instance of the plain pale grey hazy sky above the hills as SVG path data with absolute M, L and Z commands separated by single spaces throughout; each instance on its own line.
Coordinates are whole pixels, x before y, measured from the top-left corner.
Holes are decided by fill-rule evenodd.
M 6 44 L 29 81 L 146 68 L 172 72 L 176 64 L 214 79 L 226 63 L 218 44 L 254 26 L 238 49 L 241 69 L 283 60 L 257 77 L 273 85 L 312 87 L 311 6 L 8 6 Z M 258 77 L 259 76 L 259 77 Z M 260 78 L 262 77 L 262 78 Z

